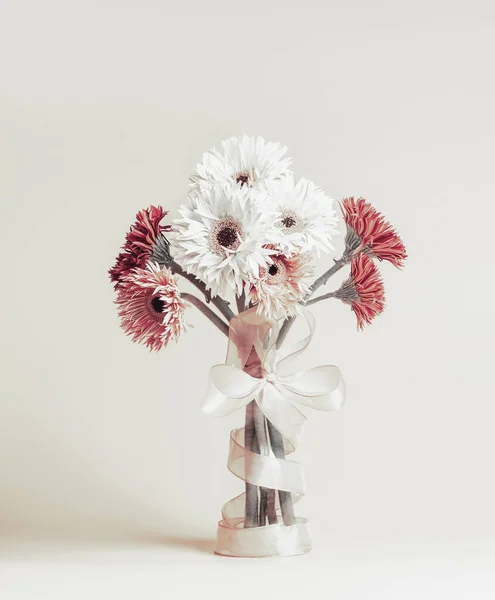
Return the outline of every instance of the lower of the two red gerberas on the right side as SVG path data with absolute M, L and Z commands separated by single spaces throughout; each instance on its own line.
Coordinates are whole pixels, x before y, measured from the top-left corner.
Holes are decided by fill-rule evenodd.
M 351 260 L 351 276 L 332 295 L 351 306 L 356 313 L 358 329 L 369 325 L 385 308 L 380 272 L 366 254 L 358 254 Z

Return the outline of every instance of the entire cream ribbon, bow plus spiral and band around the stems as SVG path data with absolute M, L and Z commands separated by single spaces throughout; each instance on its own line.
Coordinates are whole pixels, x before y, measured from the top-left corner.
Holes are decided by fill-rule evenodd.
M 302 465 L 286 460 L 295 450 L 306 420 L 299 409 L 339 410 L 345 400 L 345 384 L 339 369 L 324 365 L 295 371 L 294 360 L 307 348 L 314 334 L 314 319 L 307 309 L 302 316 L 309 327 L 307 337 L 277 349 L 279 326 L 267 321 L 255 309 L 233 318 L 229 326 L 229 347 L 225 364 L 210 370 L 202 410 L 226 416 L 255 401 L 271 427 L 283 436 L 282 457 L 273 452 L 260 454 L 246 447 L 245 429 L 230 434 L 228 469 L 240 479 L 269 490 L 288 492 L 297 502 L 306 492 Z M 257 369 L 249 368 L 256 356 Z M 251 365 L 252 366 L 252 365 Z M 222 508 L 215 552 L 226 556 L 291 556 L 311 549 L 307 519 L 295 518 L 291 525 L 280 522 L 249 527 L 245 522 L 246 495 L 229 500 Z M 275 510 L 280 513 L 280 501 Z

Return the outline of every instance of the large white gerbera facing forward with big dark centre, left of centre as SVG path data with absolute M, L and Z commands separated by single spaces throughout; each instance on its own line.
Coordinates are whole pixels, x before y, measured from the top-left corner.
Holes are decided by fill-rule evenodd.
M 266 266 L 268 216 L 259 210 L 264 195 L 249 187 L 219 185 L 191 192 L 174 221 L 174 258 L 205 282 L 213 296 L 230 289 L 241 294 L 243 282 Z

